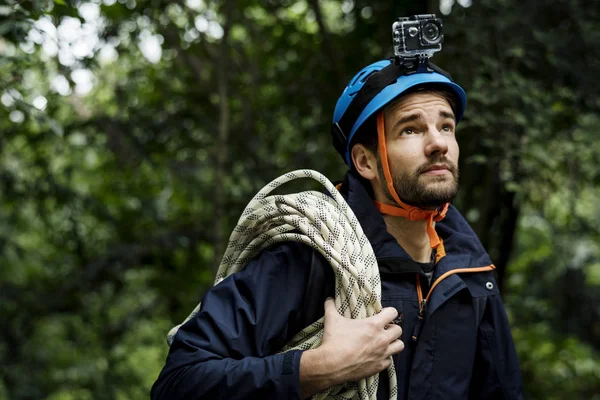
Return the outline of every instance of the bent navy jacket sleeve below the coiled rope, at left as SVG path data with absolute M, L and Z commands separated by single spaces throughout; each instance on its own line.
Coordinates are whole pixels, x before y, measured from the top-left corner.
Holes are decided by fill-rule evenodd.
M 284 243 L 204 296 L 151 391 L 158 399 L 298 399 L 301 351 L 276 352 L 297 326 L 311 249 Z

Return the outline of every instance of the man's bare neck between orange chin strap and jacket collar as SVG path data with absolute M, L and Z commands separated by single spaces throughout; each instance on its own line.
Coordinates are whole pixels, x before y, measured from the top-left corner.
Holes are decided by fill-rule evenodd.
M 427 235 L 427 220 L 411 221 L 407 218 L 383 215 L 387 231 L 417 262 L 431 261 L 431 244 Z

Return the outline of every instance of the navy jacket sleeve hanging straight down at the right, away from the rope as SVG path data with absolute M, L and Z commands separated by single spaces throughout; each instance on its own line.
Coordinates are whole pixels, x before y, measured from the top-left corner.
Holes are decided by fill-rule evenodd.
M 484 301 L 469 399 L 523 400 L 519 361 L 504 304 L 499 294 Z

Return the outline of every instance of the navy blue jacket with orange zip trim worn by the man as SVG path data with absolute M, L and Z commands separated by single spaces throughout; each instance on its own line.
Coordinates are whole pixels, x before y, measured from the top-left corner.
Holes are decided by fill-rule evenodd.
M 346 175 L 342 194 L 377 256 L 383 306 L 402 313 L 406 346 L 394 356 L 398 399 L 522 399 L 519 365 L 493 273 L 443 279 L 432 291 L 418 340 L 411 340 L 419 312 L 416 275 L 421 274 L 425 291 L 427 278 L 387 232 L 352 174 Z M 436 230 L 447 255 L 437 263 L 432 282 L 453 269 L 491 264 L 454 207 Z M 317 293 L 307 293 L 316 267 L 323 269 L 326 284 L 311 284 Z M 331 267 L 308 246 L 284 243 L 267 249 L 204 296 L 200 313 L 175 336 L 152 399 L 298 399 L 302 352 L 277 351 L 307 321 L 323 316 L 323 302 L 332 292 Z M 379 382 L 377 398 L 388 399 L 385 371 Z

